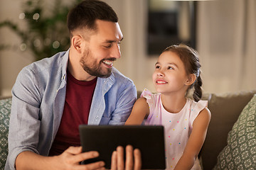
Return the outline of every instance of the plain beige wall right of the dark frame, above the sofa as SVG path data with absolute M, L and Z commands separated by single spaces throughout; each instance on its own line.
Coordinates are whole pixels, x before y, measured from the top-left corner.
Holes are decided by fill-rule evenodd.
M 256 1 L 201 1 L 198 5 L 197 47 L 204 89 L 255 89 Z

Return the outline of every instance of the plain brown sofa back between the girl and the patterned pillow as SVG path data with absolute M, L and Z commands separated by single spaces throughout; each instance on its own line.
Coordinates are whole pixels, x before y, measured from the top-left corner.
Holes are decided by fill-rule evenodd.
M 228 132 L 255 93 L 256 91 L 240 91 L 208 96 L 211 119 L 201 152 L 203 169 L 213 169 L 218 154 L 227 145 Z

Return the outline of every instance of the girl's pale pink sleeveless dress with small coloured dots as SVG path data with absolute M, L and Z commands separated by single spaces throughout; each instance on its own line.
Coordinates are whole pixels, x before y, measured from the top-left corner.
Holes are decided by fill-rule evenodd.
M 149 104 L 149 116 L 144 125 L 164 125 L 166 169 L 174 169 L 188 142 L 193 128 L 193 121 L 198 114 L 207 107 L 208 101 L 193 101 L 186 98 L 186 104 L 179 113 L 169 113 L 161 103 L 161 94 L 151 94 L 144 89 L 141 97 Z M 192 167 L 201 169 L 198 158 Z

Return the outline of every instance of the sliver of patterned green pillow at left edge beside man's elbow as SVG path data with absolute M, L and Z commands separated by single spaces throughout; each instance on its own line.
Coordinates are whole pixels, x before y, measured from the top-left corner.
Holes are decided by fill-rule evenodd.
M 8 131 L 11 98 L 0 100 L 0 169 L 4 169 L 8 154 Z

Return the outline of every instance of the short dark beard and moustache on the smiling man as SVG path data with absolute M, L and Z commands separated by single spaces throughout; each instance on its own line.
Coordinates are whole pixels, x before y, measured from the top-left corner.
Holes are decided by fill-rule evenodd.
M 112 73 L 112 68 L 106 68 L 107 72 L 103 72 L 102 67 L 100 67 L 100 64 L 102 64 L 102 61 L 104 61 L 104 60 L 101 60 L 99 63 L 97 63 L 97 61 L 90 62 L 90 60 L 92 60 L 92 58 L 93 58 L 92 52 L 90 52 L 90 50 L 87 50 L 86 54 L 84 53 L 83 57 L 80 59 L 82 69 L 84 69 L 85 72 L 87 72 L 91 76 L 101 77 L 101 78 L 110 77 L 110 75 Z M 107 60 L 114 61 L 115 58 L 110 58 Z M 88 64 L 89 62 L 90 62 L 90 64 Z

